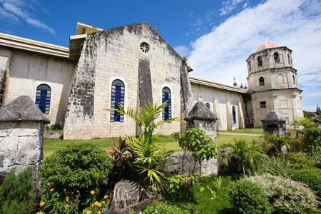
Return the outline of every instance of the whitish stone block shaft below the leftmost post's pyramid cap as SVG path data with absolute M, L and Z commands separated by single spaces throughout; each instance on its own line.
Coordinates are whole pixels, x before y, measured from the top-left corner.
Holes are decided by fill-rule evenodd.
M 0 183 L 11 169 L 37 168 L 44 158 L 44 123 L 35 121 L 0 123 Z

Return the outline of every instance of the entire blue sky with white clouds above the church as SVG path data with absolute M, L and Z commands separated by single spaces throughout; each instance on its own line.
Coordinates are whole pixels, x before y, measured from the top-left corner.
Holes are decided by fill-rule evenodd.
M 102 29 L 147 21 L 191 75 L 246 83 L 245 59 L 265 41 L 293 50 L 305 110 L 321 104 L 320 0 L 39 1 L 0 0 L 0 32 L 68 46 L 76 21 Z

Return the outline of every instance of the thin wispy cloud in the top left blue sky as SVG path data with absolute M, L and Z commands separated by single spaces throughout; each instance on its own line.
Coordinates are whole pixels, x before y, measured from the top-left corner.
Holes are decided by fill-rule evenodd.
M 51 34 L 55 34 L 56 32 L 51 27 L 47 26 L 46 24 L 42 23 L 38 19 L 34 19 L 31 17 L 30 13 L 26 11 L 26 9 L 31 8 L 35 9 L 32 3 L 36 1 L 29 1 L 29 4 L 25 4 L 24 1 L 20 0 L 0 0 L 3 7 L 0 7 L 0 16 L 6 17 L 11 19 L 11 21 L 19 21 L 23 19 L 27 23 L 31 24 L 32 26 L 36 26 L 38 28 L 44 29 L 49 31 Z M 19 18 L 18 18 L 19 17 Z

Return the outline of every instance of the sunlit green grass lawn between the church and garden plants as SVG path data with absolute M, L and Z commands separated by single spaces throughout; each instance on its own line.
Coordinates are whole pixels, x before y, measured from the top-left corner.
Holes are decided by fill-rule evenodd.
M 164 144 L 165 148 L 168 150 L 174 151 L 181 151 L 180 147 L 178 146 L 178 142 L 172 136 L 160 136 L 161 143 Z M 253 141 L 253 139 L 258 138 L 256 136 L 228 136 L 228 135 L 220 135 L 218 133 L 218 137 L 216 138 L 216 142 L 218 143 L 218 148 L 223 148 L 223 144 L 225 143 L 233 143 L 234 138 L 236 140 L 240 140 L 240 138 L 245 139 L 247 142 Z M 91 140 L 65 140 L 61 141 L 61 139 L 44 139 L 44 157 L 51 155 L 59 148 L 63 148 L 66 146 L 66 143 L 71 142 L 86 142 L 91 141 L 93 143 L 98 143 L 101 148 L 108 150 L 111 148 L 111 141 L 117 142 L 118 138 L 99 138 L 99 139 L 91 139 Z

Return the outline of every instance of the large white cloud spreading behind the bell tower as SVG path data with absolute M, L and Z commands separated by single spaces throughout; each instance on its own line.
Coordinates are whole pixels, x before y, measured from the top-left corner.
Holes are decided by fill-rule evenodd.
M 233 5 L 233 1 L 228 2 L 226 5 Z M 306 88 L 317 86 L 321 91 L 320 23 L 321 3 L 317 0 L 269 0 L 248 7 L 190 44 L 188 62 L 194 68 L 191 74 L 228 84 L 233 84 L 235 77 L 244 85 L 245 60 L 267 36 L 269 41 L 293 50 L 299 87 L 305 90 L 302 93 L 305 105 L 305 96 L 313 93 Z M 321 98 L 318 99 L 321 103 Z

